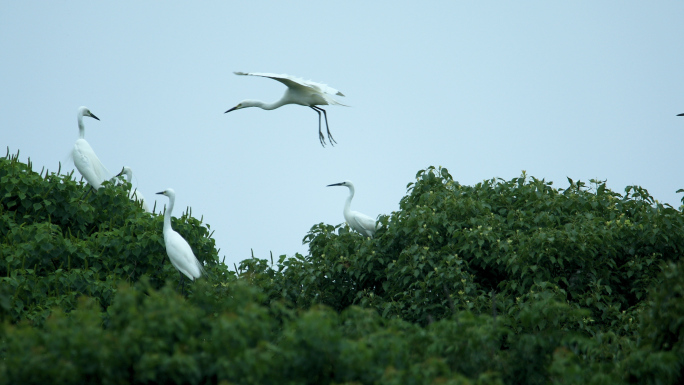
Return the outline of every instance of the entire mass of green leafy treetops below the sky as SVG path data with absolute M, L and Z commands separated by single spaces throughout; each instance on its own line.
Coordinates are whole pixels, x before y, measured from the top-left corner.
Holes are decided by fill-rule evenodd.
M 309 254 L 176 291 L 162 218 L 130 185 L 0 159 L 0 383 L 677 384 L 684 216 L 645 189 L 418 172 L 375 238 L 318 224 Z

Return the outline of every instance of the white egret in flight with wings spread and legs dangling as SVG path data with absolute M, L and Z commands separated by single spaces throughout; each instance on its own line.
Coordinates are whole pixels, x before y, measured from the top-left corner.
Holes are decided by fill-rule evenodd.
M 259 72 L 235 72 L 235 74 L 271 78 L 285 84 L 287 89 L 285 90 L 283 97 L 276 102 L 264 103 L 259 100 L 247 99 L 238 103 L 237 106 L 224 113 L 247 107 L 259 107 L 263 110 L 275 110 L 276 108 L 282 107 L 286 104 L 299 104 L 301 106 L 308 106 L 318 113 L 318 138 L 321 141 L 321 145 L 325 147 L 325 137 L 321 131 L 321 112 L 323 112 L 323 116 L 325 117 L 325 128 L 328 130 L 328 139 L 330 140 L 330 144 L 334 146 L 333 143 L 337 143 L 335 139 L 333 139 L 332 134 L 330 134 L 330 127 L 328 126 L 328 114 L 324 109 L 316 106 L 340 105 L 348 107 L 347 105 L 342 104 L 330 97 L 330 95 L 344 96 L 344 94 L 342 94 L 340 91 L 325 84 L 300 79 L 290 75 L 276 75 Z

